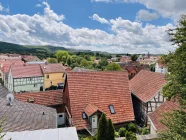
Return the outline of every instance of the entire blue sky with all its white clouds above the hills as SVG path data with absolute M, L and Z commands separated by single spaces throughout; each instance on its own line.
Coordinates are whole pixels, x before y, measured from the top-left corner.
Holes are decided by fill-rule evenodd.
M 114 53 L 167 53 L 176 46 L 165 31 L 176 26 L 185 4 L 185 0 L 0 0 L 0 40 Z

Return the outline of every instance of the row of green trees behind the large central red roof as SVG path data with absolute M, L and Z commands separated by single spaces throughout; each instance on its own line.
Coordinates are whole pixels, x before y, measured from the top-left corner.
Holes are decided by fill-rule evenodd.
M 101 59 L 99 63 L 95 63 L 94 60 L 96 57 Z M 71 68 L 74 67 L 84 67 L 88 69 L 95 70 L 113 70 L 113 71 L 121 71 L 121 67 L 119 64 L 111 63 L 109 64 L 107 59 L 110 58 L 110 55 L 101 55 L 96 53 L 96 56 L 93 54 L 86 53 L 78 53 L 78 55 L 70 55 L 66 51 L 57 51 L 56 58 L 48 58 L 49 63 L 63 63 L 67 64 Z

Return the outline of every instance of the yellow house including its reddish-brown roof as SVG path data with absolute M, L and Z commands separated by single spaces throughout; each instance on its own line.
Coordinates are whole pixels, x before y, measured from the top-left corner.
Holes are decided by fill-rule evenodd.
M 44 90 L 51 86 L 63 88 L 66 72 L 62 64 L 41 64 L 41 69 L 44 74 Z

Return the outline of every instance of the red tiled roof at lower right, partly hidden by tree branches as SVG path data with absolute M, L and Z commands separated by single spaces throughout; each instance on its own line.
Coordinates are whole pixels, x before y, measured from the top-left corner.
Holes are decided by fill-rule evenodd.
M 149 118 L 157 131 L 163 131 L 167 129 L 167 127 L 160 122 L 161 119 L 163 118 L 162 115 L 166 112 L 176 110 L 178 109 L 178 107 L 179 107 L 178 103 L 174 101 L 166 101 L 163 104 L 161 104 L 154 112 L 149 114 Z

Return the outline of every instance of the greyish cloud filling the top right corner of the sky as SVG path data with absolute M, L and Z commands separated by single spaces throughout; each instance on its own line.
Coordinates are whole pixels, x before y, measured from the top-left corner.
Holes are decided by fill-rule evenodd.
M 186 0 L 91 0 L 92 2 L 123 2 L 140 3 L 148 9 L 155 10 L 165 18 L 172 18 L 175 22 L 179 20 L 180 15 L 186 13 Z

